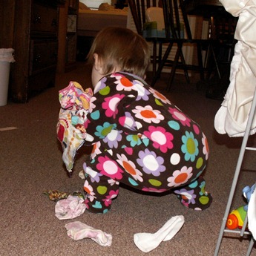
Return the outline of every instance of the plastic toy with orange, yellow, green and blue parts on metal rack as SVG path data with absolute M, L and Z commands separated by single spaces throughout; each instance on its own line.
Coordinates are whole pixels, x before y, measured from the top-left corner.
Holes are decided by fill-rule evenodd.
M 247 203 L 249 203 L 249 200 L 254 190 L 255 185 L 253 185 L 251 188 L 249 186 L 243 188 L 243 196 L 246 197 Z M 248 204 L 246 204 L 245 206 L 240 206 L 237 209 L 233 210 L 228 216 L 226 227 L 228 229 L 242 229 L 243 222 L 246 218 L 247 210 Z

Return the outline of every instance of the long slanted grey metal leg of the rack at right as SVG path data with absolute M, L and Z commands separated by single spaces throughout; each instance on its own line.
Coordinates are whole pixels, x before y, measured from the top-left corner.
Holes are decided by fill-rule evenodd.
M 223 217 L 223 222 L 222 222 L 222 225 L 221 225 L 221 228 L 220 228 L 220 234 L 219 234 L 219 237 L 218 237 L 218 240 L 217 240 L 217 245 L 216 245 L 216 249 L 215 249 L 215 252 L 214 252 L 214 256 L 217 256 L 218 253 L 219 253 L 220 245 L 221 245 L 221 242 L 222 242 L 222 239 L 223 239 L 223 233 L 226 231 L 225 230 L 226 221 L 227 221 L 227 218 L 229 216 L 230 208 L 231 208 L 231 205 L 232 205 L 232 200 L 233 200 L 233 197 L 234 197 L 234 191 L 235 191 L 235 188 L 237 186 L 237 180 L 238 180 L 238 177 L 239 177 L 239 174 L 240 174 L 240 168 L 241 168 L 241 165 L 243 163 L 243 156 L 244 156 L 244 153 L 245 153 L 246 149 L 248 149 L 248 148 L 246 148 L 246 145 L 247 145 L 250 130 L 252 128 L 252 121 L 253 121 L 254 116 L 255 116 L 255 110 L 256 110 L 256 91 L 255 91 L 255 95 L 254 95 L 253 100 L 252 100 L 252 106 L 251 106 L 251 110 L 250 110 L 250 113 L 249 113 L 248 122 L 247 122 L 247 125 L 246 125 L 246 131 L 245 131 L 245 134 L 244 134 L 244 137 L 243 137 L 243 142 L 242 142 L 242 145 L 241 145 L 241 148 L 240 148 L 240 154 L 239 154 L 239 157 L 238 157 L 238 160 L 237 160 L 237 167 L 236 167 L 235 172 L 234 172 L 234 179 L 233 179 L 233 183 L 232 183 L 232 188 L 230 190 L 229 200 L 228 200 L 228 203 L 226 205 L 226 211 L 225 211 L 225 214 L 224 214 L 224 217 Z M 250 246 L 251 246 L 251 244 L 250 244 Z M 252 244 L 252 246 L 253 246 L 253 244 Z M 251 249 L 251 251 L 252 251 L 252 249 Z

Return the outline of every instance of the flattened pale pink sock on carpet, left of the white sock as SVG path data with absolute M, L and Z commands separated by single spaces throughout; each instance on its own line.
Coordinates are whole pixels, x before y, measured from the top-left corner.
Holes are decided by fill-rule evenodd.
M 80 221 L 74 221 L 65 225 L 68 231 L 68 236 L 73 240 L 81 240 L 91 238 L 91 240 L 99 243 L 100 246 L 111 246 L 112 235 L 102 232 L 100 229 L 94 229 Z

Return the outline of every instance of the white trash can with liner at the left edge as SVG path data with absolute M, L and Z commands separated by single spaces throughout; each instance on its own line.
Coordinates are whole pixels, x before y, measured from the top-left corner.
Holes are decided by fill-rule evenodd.
M 15 62 L 12 48 L 0 49 L 0 106 L 7 105 L 10 62 Z

